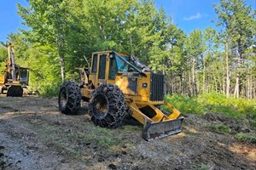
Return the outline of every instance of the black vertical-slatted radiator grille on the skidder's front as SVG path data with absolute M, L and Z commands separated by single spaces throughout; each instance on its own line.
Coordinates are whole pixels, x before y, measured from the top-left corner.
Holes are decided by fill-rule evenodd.
M 150 85 L 150 100 L 163 101 L 164 100 L 164 76 L 160 74 L 151 73 Z

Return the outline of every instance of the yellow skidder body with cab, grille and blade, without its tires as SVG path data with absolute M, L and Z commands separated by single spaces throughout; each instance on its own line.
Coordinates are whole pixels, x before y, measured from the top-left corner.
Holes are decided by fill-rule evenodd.
M 125 94 L 128 113 L 143 124 L 144 139 L 180 133 L 183 117 L 164 101 L 164 76 L 137 68 L 129 57 L 114 51 L 93 53 L 90 68 L 79 68 L 82 98 L 89 101 L 92 91 L 102 83 L 115 84 Z M 172 113 L 160 111 L 160 105 Z

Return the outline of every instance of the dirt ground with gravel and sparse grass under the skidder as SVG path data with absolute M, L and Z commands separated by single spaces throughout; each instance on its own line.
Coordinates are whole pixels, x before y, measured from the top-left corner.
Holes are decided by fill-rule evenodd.
M 229 133 L 214 131 L 219 124 Z M 255 135 L 246 122 L 188 115 L 183 133 L 150 142 L 142 129 L 95 127 L 85 107 L 63 115 L 57 99 L 0 96 L 0 169 L 256 169 L 256 145 L 235 138 Z

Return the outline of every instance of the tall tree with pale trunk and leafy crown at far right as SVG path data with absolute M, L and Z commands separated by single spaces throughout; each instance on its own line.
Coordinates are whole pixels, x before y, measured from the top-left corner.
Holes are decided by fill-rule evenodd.
M 233 83 L 236 83 L 234 94 L 239 97 L 241 86 L 247 83 L 248 75 L 252 74 L 251 68 L 255 65 L 251 63 L 251 54 L 247 51 L 255 44 L 256 13 L 251 6 L 247 6 L 245 0 L 220 0 L 214 8 L 218 14 L 217 26 L 221 27 L 219 40 L 225 44 L 226 64 L 229 65 L 226 66 L 226 71 L 229 72 L 230 67 L 237 75 L 236 82 Z M 244 62 L 244 60 L 250 61 Z M 247 62 L 252 65 L 249 66 Z M 252 82 L 255 82 L 255 79 Z

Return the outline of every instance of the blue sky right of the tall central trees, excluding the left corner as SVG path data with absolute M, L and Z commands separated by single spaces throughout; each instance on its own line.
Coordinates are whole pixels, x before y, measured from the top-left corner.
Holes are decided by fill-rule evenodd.
M 215 28 L 213 20 L 217 20 L 213 3 L 219 0 L 154 0 L 157 8 L 161 6 L 166 14 L 172 17 L 173 23 L 183 29 L 187 34 L 194 29 L 206 29 L 208 26 Z M 253 9 L 256 7 L 256 0 L 247 0 L 247 5 Z

